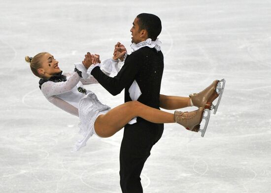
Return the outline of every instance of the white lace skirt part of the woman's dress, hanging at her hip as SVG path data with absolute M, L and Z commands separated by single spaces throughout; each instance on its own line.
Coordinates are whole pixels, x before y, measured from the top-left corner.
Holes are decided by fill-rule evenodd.
M 106 114 L 109 110 L 110 107 L 102 104 L 97 96 L 91 91 L 88 91 L 88 94 L 80 100 L 78 106 L 78 127 L 80 128 L 79 133 L 83 135 L 83 138 L 75 144 L 74 151 L 78 151 L 80 148 L 86 146 L 88 139 L 93 134 L 96 134 L 94 123 L 97 117 Z

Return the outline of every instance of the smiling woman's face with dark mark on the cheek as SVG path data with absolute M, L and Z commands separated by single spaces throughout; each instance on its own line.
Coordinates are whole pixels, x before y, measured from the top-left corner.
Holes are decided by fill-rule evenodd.
M 41 58 L 41 66 L 42 68 L 40 68 L 40 73 L 48 78 L 61 72 L 61 69 L 58 67 L 58 61 L 49 53 L 44 54 Z

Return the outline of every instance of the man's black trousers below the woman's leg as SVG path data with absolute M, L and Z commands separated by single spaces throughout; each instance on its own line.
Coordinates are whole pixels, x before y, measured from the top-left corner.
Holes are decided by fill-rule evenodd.
M 120 148 L 120 186 L 123 193 L 143 193 L 140 174 L 163 130 L 164 124 L 145 120 L 125 126 Z

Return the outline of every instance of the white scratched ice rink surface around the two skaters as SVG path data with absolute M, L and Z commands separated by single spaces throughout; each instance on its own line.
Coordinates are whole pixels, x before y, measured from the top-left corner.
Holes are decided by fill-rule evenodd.
M 165 125 L 142 171 L 144 193 L 270 193 L 271 0 L 1 0 L 0 193 L 121 192 L 123 130 L 71 152 L 78 119 L 43 97 L 24 57 L 49 52 L 67 72 L 88 51 L 110 58 L 117 41 L 130 53 L 141 12 L 162 20 L 161 94 L 227 81 L 203 138 Z M 111 107 L 124 101 L 87 89 Z

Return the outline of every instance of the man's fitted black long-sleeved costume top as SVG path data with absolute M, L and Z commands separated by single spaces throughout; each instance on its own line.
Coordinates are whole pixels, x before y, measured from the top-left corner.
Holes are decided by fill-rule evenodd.
M 135 80 L 142 93 L 137 100 L 159 109 L 163 70 L 163 53 L 157 52 L 155 48 L 142 47 L 127 56 L 124 65 L 115 77 L 105 75 L 100 67 L 95 67 L 91 74 L 114 96 L 125 89 L 125 102 L 132 100 L 128 90 Z M 137 121 L 140 119 L 137 118 Z

